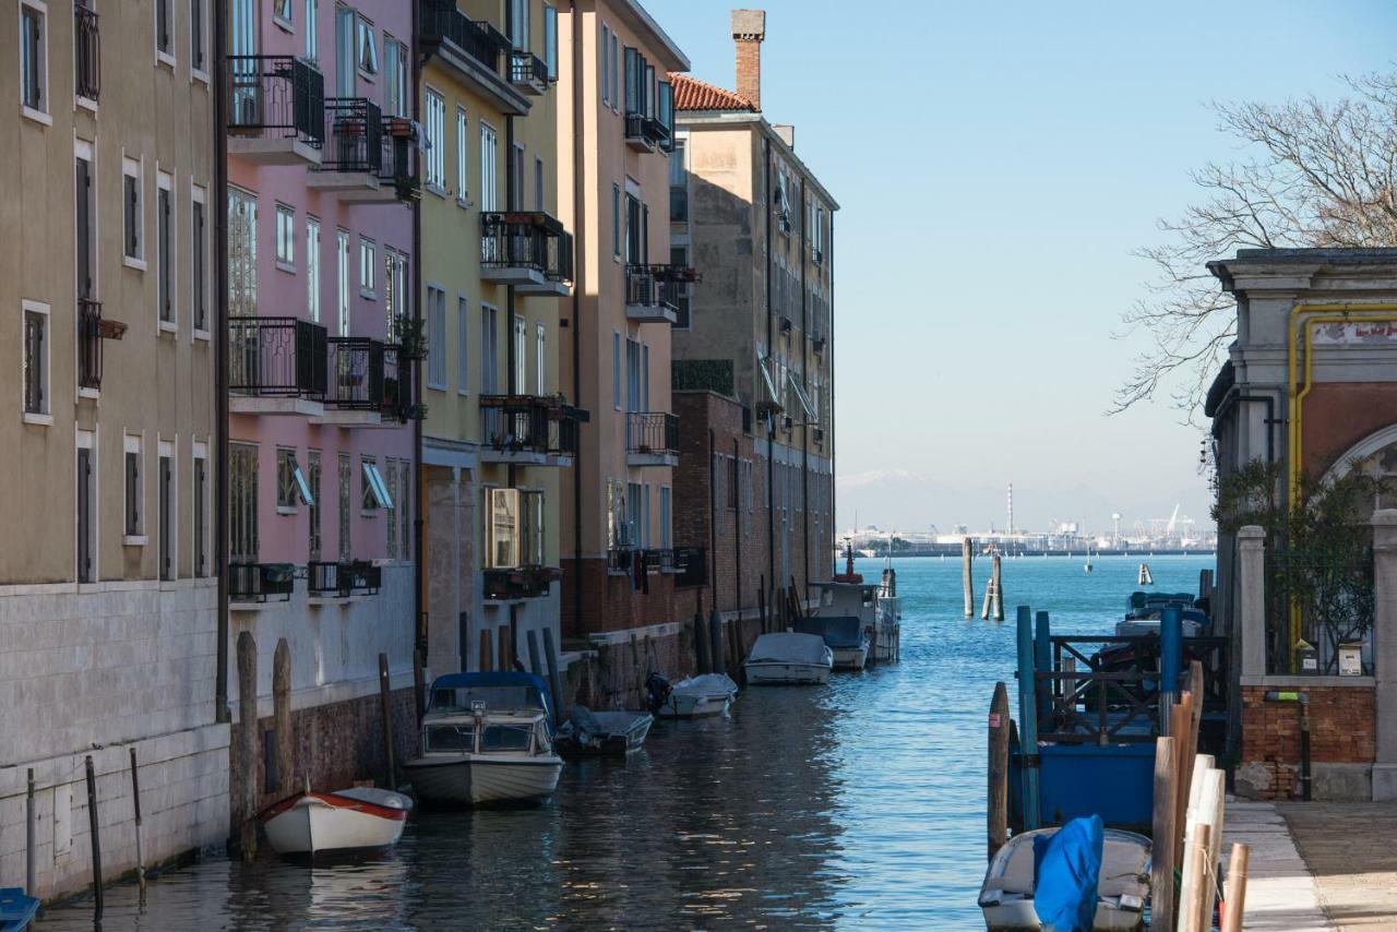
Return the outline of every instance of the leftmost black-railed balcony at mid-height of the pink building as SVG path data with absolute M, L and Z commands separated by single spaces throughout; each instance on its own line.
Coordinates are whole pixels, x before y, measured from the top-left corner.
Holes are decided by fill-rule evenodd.
M 231 317 L 228 409 L 233 414 L 324 415 L 326 328 L 299 317 Z

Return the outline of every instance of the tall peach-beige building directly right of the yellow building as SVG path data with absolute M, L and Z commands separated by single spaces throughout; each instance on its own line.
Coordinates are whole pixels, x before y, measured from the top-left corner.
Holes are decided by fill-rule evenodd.
M 675 627 L 669 397 L 671 74 L 689 60 L 633 0 L 560 17 L 560 186 L 577 243 L 563 384 L 590 415 L 563 495 L 563 634 L 627 639 Z

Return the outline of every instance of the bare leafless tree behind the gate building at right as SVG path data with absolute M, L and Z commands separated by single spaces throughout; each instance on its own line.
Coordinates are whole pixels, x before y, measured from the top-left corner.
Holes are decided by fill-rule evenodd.
M 1351 96 L 1336 102 L 1213 105 L 1252 155 L 1193 172 L 1203 198 L 1160 221 L 1164 245 L 1137 250 L 1157 275 L 1122 321 L 1153 347 L 1112 414 L 1162 390 L 1190 419 L 1199 411 L 1236 333 L 1236 305 L 1207 261 L 1246 247 L 1397 246 L 1397 74 L 1343 81 Z

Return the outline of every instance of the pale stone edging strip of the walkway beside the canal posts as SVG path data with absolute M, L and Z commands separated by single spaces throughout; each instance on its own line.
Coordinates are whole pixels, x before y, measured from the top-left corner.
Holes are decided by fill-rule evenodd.
M 1228 799 L 1224 857 L 1234 841 L 1252 850 L 1246 883 L 1248 932 L 1316 932 L 1334 926 L 1320 908 L 1319 884 L 1301 859 L 1285 819 L 1268 802 Z M 1383 928 L 1383 926 L 1369 926 Z

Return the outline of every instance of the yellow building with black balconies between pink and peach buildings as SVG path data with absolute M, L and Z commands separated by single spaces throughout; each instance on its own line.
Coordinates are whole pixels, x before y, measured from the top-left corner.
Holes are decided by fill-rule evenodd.
M 419 29 L 427 665 L 513 668 L 531 632 L 557 639 L 577 439 L 557 373 L 557 7 L 423 0 Z

